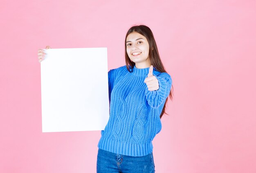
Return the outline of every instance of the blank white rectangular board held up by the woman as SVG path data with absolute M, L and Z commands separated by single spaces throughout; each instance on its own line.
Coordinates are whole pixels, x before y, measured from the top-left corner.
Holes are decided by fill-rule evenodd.
M 109 119 L 107 48 L 45 49 L 42 131 L 104 130 Z

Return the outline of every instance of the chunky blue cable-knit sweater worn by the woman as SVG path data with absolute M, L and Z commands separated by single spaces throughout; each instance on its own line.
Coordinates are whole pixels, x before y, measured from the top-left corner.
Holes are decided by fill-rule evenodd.
M 99 149 L 121 155 L 144 156 L 153 151 L 152 140 L 161 129 L 160 114 L 171 90 L 167 73 L 153 69 L 159 89 L 149 91 L 144 80 L 149 68 L 126 66 L 108 72 L 110 117 L 98 143 Z

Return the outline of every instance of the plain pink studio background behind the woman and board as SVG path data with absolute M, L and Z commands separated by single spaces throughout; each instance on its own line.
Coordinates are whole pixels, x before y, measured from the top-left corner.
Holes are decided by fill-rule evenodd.
M 42 133 L 37 50 L 107 47 L 117 68 L 126 31 L 145 24 L 174 88 L 153 140 L 156 173 L 255 173 L 255 9 L 254 0 L 2 0 L 0 172 L 96 172 L 100 131 Z

